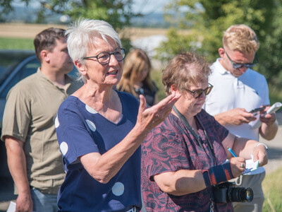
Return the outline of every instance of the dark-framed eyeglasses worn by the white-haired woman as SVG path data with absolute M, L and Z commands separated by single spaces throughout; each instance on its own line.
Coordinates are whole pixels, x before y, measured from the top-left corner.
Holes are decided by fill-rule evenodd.
M 97 56 L 92 57 L 83 57 L 83 59 L 90 59 L 90 58 L 96 58 L 99 64 L 101 65 L 107 65 L 109 64 L 111 60 L 111 54 L 114 55 L 117 61 L 123 61 L 125 57 L 125 49 L 123 48 L 116 48 L 114 52 L 101 52 L 97 54 Z

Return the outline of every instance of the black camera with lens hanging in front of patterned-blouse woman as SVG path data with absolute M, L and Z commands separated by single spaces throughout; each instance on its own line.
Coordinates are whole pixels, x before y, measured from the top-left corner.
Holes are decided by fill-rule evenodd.
M 232 182 L 223 182 L 221 184 L 213 186 L 214 202 L 227 203 L 227 202 L 243 202 L 252 201 L 254 192 L 252 189 L 244 187 L 235 187 Z

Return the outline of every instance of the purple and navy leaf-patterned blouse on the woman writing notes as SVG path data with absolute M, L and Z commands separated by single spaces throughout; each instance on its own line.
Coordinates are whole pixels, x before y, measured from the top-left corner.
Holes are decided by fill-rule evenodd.
M 210 210 L 211 187 L 192 194 L 174 196 L 162 192 L 153 178 L 163 172 L 209 169 L 226 161 L 226 152 L 221 142 L 228 135 L 228 130 L 204 110 L 197 114 L 197 118 L 204 127 L 197 122 L 204 149 L 185 124 L 173 114 L 169 114 L 164 122 L 155 127 L 142 143 L 142 197 L 148 212 Z M 204 130 L 214 148 L 216 164 L 212 164 L 212 154 Z M 233 211 L 232 204 L 214 204 L 214 211 Z

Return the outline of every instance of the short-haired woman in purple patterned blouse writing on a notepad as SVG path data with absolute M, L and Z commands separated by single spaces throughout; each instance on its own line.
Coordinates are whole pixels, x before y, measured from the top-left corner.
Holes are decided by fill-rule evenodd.
M 212 186 L 238 177 L 245 159 L 267 163 L 257 141 L 238 138 L 202 110 L 209 65 L 192 53 L 178 54 L 163 71 L 166 93 L 180 94 L 168 117 L 142 143 L 142 197 L 147 211 L 233 211 L 216 203 Z M 228 147 L 237 158 L 231 158 Z M 227 158 L 231 160 L 226 161 Z

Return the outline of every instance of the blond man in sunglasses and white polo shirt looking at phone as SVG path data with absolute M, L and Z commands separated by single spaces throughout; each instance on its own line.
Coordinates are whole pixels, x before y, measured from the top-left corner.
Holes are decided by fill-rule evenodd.
M 270 107 L 266 78 L 250 69 L 258 62 L 258 49 L 257 35 L 247 25 L 232 25 L 224 32 L 220 58 L 212 64 L 209 76 L 214 88 L 203 105 L 231 133 L 256 141 L 259 134 L 266 140 L 274 139 L 278 130 L 275 113 L 264 114 Z M 262 106 L 266 108 L 260 113 L 250 112 Z M 262 211 L 264 177 L 265 170 L 259 167 L 236 180 L 238 187 L 253 189 L 254 199 L 250 203 L 233 203 L 234 211 Z

